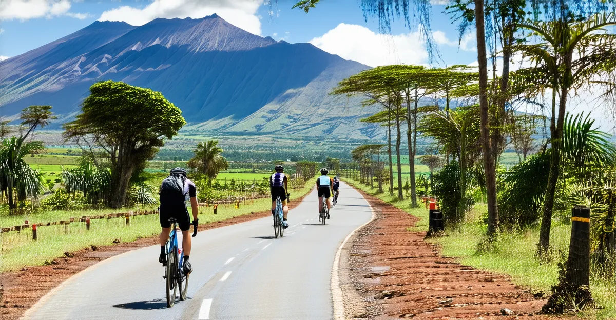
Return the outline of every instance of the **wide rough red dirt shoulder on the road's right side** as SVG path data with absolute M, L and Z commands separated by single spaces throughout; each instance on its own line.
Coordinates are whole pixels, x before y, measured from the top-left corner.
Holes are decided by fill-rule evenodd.
M 361 192 L 361 191 L 360 191 Z M 516 286 L 509 276 L 464 266 L 411 232 L 418 218 L 363 193 L 376 218 L 353 242 L 352 281 L 367 303 L 366 318 L 574 319 L 545 316 L 545 298 Z M 503 316 L 502 309 L 513 312 Z

